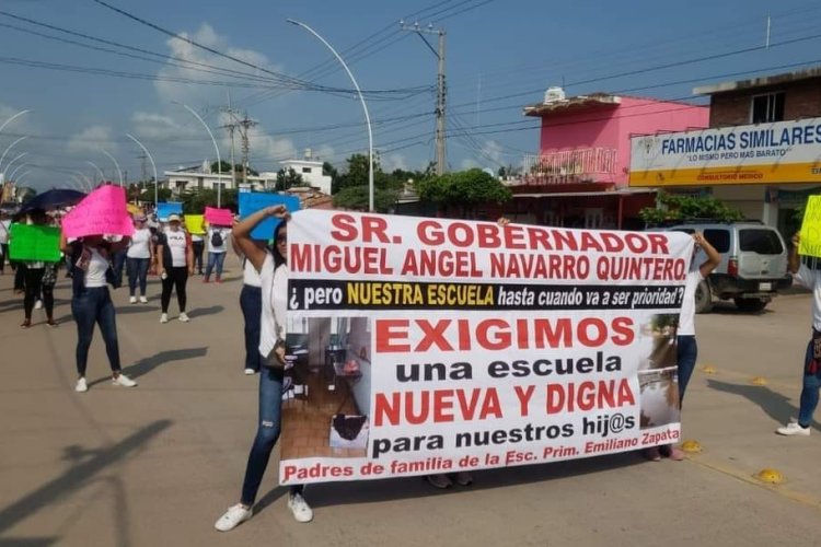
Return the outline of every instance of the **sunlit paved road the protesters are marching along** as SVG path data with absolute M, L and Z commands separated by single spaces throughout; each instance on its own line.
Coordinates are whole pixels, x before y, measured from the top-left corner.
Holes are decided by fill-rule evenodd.
M 8 270 L 0 277 L 0 546 L 821 545 L 821 429 L 773 434 L 797 412 L 806 294 L 761 315 L 698 317 L 698 365 L 716 372 L 691 383 L 684 438 L 704 451 L 685 462 L 623 454 L 484 472 L 443 493 L 418 478 L 312 486 L 311 524 L 291 517 L 273 465 L 254 519 L 220 534 L 213 521 L 239 497 L 256 412 L 229 267 L 222 286 L 189 283 L 188 324 L 160 325 L 155 283 L 147 305 L 117 291 L 124 366 L 140 385 L 111 385 L 97 338 L 85 394 L 72 391 L 68 284 L 61 325 L 23 331 L 22 299 Z M 758 482 L 762 468 L 786 484 Z

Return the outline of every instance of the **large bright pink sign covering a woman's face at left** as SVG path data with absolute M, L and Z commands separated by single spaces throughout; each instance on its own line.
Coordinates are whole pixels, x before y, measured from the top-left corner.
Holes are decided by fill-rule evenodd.
M 62 231 L 67 237 L 134 234 L 134 223 L 126 210 L 125 188 L 103 185 L 85 196 L 62 219 Z

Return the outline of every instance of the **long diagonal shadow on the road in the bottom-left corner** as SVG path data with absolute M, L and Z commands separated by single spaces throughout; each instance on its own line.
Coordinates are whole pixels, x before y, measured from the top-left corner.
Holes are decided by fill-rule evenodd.
M 79 454 L 81 459 L 66 469 L 59 477 L 0 510 L 0 533 L 25 519 L 36 515 L 37 511 L 49 504 L 61 502 L 68 496 L 93 482 L 96 480 L 95 477 L 97 474 L 132 456 L 140 447 L 167 429 L 172 423 L 171 420 L 158 420 L 108 447 L 85 452 L 80 449 Z M 78 453 L 76 446 L 71 450 Z M 127 521 L 127 512 L 124 511 L 125 508 L 117 503 L 115 509 L 122 513 L 119 519 Z M 123 523 L 120 522 L 119 524 Z M 123 538 L 119 537 L 119 539 Z M 28 542 L 31 542 L 31 545 L 48 545 L 45 543 L 46 539 L 30 539 Z M 15 543 L 14 545 L 28 544 Z

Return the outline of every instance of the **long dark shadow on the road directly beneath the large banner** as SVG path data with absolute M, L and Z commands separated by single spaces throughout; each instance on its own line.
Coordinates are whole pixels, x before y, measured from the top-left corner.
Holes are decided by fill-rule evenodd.
M 673 462 L 667 459 L 663 462 L 664 465 L 674 465 Z M 465 489 L 485 490 L 543 482 L 553 480 L 554 478 L 610 472 L 614 468 L 625 468 L 643 464 L 658 465 L 647 462 L 641 451 L 638 450 L 583 459 L 570 459 L 567 462 L 477 470 L 472 473 L 473 485 L 462 487 L 454 482 L 454 486 L 444 490 L 430 486 L 424 476 L 386 480 L 362 480 L 358 482 L 324 482 L 307 487 L 305 499 L 314 508 L 350 503 L 373 503 L 407 498 L 426 498 L 428 496 L 447 496 L 448 493 L 459 493 Z M 280 486 L 275 488 L 266 493 L 257 503 L 256 510 L 262 511 L 287 493 L 288 487 Z

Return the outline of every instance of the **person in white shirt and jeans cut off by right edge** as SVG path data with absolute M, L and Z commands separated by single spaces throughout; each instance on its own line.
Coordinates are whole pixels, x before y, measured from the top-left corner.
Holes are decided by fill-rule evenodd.
M 818 267 L 809 268 L 801 263 L 798 257 L 801 236 L 795 234 L 787 269 L 798 284 L 812 291 L 812 336 L 803 354 L 803 381 L 798 419 L 790 420 L 786 426 L 775 430 L 779 435 L 787 437 L 809 437 L 812 415 L 818 407 L 818 391 L 821 387 L 821 270 Z

